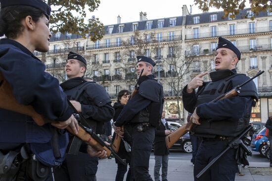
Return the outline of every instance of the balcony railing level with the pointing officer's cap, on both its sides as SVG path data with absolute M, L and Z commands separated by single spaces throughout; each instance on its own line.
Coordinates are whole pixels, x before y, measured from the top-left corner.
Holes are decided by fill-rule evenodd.
M 245 46 L 236 46 L 241 52 L 250 52 L 250 51 L 263 51 L 263 50 L 272 50 L 272 46 L 270 44 L 260 44 L 255 45 L 252 48 L 250 45 Z M 200 48 L 197 52 L 196 50 L 186 50 L 185 56 L 195 56 L 195 55 L 211 55 L 215 51 L 215 48 Z

